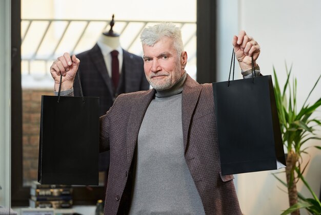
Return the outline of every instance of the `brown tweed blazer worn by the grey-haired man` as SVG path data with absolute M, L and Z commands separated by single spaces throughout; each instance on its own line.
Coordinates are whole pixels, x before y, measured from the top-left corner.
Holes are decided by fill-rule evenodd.
M 101 151 L 110 149 L 105 215 L 127 214 L 137 136 L 155 90 L 122 94 L 101 117 Z M 187 75 L 182 94 L 185 159 L 206 214 L 242 214 L 233 175 L 220 174 L 212 84 Z

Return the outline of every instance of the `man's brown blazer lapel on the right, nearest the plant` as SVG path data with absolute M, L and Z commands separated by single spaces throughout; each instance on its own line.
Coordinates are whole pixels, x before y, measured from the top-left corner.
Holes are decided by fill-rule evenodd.
M 194 81 L 189 75 L 186 77 L 186 82 L 182 94 L 182 124 L 183 124 L 183 140 L 184 154 L 187 149 L 187 139 L 190 128 L 192 115 L 197 104 L 199 94 L 202 91 L 202 85 Z

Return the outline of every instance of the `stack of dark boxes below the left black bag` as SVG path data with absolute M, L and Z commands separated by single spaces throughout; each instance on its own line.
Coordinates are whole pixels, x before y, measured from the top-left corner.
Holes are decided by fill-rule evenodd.
M 30 188 L 30 207 L 71 208 L 72 187 L 70 185 L 41 185 L 33 182 Z

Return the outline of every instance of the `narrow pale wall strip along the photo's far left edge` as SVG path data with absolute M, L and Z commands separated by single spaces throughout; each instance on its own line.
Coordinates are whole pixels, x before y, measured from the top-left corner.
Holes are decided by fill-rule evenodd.
M 10 205 L 10 5 L 10 0 L 0 1 L 0 206 L 7 208 Z

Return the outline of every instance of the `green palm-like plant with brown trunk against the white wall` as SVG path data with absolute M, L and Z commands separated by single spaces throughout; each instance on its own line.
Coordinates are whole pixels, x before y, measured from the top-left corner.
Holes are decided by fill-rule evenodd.
M 291 67 L 292 68 L 292 67 Z M 283 92 L 281 92 L 278 80 L 276 77 L 275 69 L 274 71 L 274 94 L 276 100 L 276 106 L 280 121 L 280 128 L 283 138 L 283 143 L 287 148 L 287 167 L 286 167 L 286 178 L 288 187 L 288 196 L 290 208 L 286 210 L 283 214 L 288 214 L 291 212 L 292 215 L 299 214 L 299 208 L 306 208 L 313 214 L 321 214 L 321 203 L 317 199 L 314 192 L 309 187 L 308 183 L 303 177 L 303 172 L 307 165 L 302 167 L 302 153 L 307 153 L 306 150 L 309 147 L 305 147 L 305 143 L 310 139 L 321 139 L 318 137 L 314 131 L 316 127 L 321 126 L 319 119 L 312 118 L 313 112 L 321 105 L 321 98 L 319 98 L 314 104 L 307 104 L 308 98 L 313 92 L 315 86 L 317 85 L 321 75 L 312 87 L 306 101 L 304 102 L 300 111 L 297 112 L 296 109 L 296 78 L 293 79 L 292 87 L 290 86 L 290 74 L 291 68 L 287 71 L 287 80 L 283 87 Z M 292 89 L 291 89 L 292 88 Z M 287 98 L 287 92 L 289 98 Z M 321 144 L 320 144 L 321 145 Z M 321 149 L 320 146 L 315 146 Z M 279 178 L 278 178 L 279 179 Z M 308 187 L 312 193 L 314 199 L 305 199 L 299 194 L 296 189 L 296 183 L 302 180 L 304 184 Z M 285 183 L 284 183 L 285 184 Z M 312 209 L 313 210 L 312 210 Z M 316 212 L 315 212 L 316 211 Z M 319 212 L 317 212 L 319 211 Z

